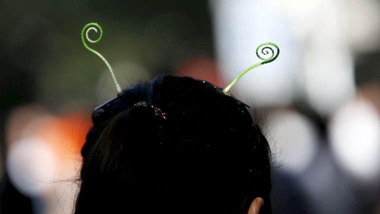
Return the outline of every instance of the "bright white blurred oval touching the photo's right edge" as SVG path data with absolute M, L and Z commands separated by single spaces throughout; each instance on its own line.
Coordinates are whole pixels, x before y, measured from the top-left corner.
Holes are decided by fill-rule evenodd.
M 371 102 L 358 97 L 341 106 L 328 134 L 343 169 L 364 182 L 380 178 L 380 117 Z

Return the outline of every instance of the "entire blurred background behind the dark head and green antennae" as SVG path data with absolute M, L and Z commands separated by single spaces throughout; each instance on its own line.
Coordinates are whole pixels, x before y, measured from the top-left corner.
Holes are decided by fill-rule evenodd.
M 0 213 L 70 213 L 80 143 L 116 88 L 160 73 L 225 87 L 271 143 L 273 213 L 380 213 L 380 0 L 1 0 Z M 97 38 L 94 31 L 89 33 Z

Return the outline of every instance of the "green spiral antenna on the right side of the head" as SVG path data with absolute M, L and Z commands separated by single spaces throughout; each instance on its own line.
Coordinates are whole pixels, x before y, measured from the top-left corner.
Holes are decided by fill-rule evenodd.
M 276 49 L 277 49 L 277 52 L 276 52 L 276 54 L 274 55 L 274 50 L 273 50 L 273 48 L 271 47 L 271 46 L 265 46 L 265 45 L 271 45 L 271 46 L 274 46 Z M 262 47 L 262 46 L 264 46 L 264 47 Z M 269 53 L 269 51 L 267 50 L 267 49 L 270 49 L 270 51 L 271 51 L 271 55 L 269 56 L 269 57 L 267 57 L 267 58 L 264 58 L 264 57 L 261 57 L 259 54 L 258 54 L 258 50 L 260 49 L 260 47 L 262 47 L 261 48 L 261 53 L 263 54 L 263 55 L 267 55 L 268 53 Z M 261 65 L 261 64 L 265 64 L 265 63 L 269 63 L 269 62 L 271 62 L 271 61 L 273 61 L 274 59 L 276 59 L 277 58 L 277 56 L 278 56 L 278 54 L 279 54 L 279 48 L 278 48 L 278 46 L 275 44 L 275 43 L 272 43 L 272 42 L 265 42 L 265 43 L 261 43 L 260 45 L 258 45 L 257 46 L 257 48 L 256 48 L 256 55 L 257 55 L 257 57 L 259 58 L 259 59 L 261 59 L 261 60 L 264 60 L 264 61 L 261 61 L 261 62 L 258 62 L 258 63 L 256 63 L 256 64 L 253 64 L 253 65 L 251 65 L 251 66 L 249 66 L 249 67 L 247 67 L 245 70 L 243 70 L 227 87 L 225 87 L 224 89 L 223 89 L 223 92 L 225 93 L 225 94 L 227 94 L 227 95 L 231 95 L 231 93 L 229 92 L 229 90 L 231 89 L 231 87 L 237 82 L 237 80 L 239 80 L 239 78 L 242 76 L 242 75 L 244 75 L 244 73 L 246 73 L 246 72 L 248 72 L 250 69 L 252 69 L 252 68 L 254 68 L 254 67 L 257 67 L 257 66 L 259 66 L 259 65 Z

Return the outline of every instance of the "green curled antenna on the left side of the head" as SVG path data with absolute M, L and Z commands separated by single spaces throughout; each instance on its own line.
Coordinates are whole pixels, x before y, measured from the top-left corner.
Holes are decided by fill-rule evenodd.
M 99 36 L 99 38 L 96 39 L 96 40 L 92 40 L 92 39 L 90 39 L 90 38 L 88 37 L 88 32 L 89 32 L 90 30 L 95 30 L 95 32 L 97 32 L 97 29 L 96 29 L 96 27 L 94 27 L 94 26 L 96 26 L 96 27 L 99 28 L 99 30 L 100 30 L 100 36 Z M 87 29 L 87 30 L 86 30 L 86 29 Z M 84 34 L 85 34 L 85 37 L 86 37 L 87 41 L 89 41 L 89 42 L 91 42 L 91 43 L 96 43 L 96 42 L 98 42 L 98 41 L 101 39 L 101 37 L 103 36 L 103 30 L 101 29 L 100 25 L 97 24 L 97 23 L 88 23 L 88 24 L 86 24 L 86 25 L 83 27 L 83 29 L 82 29 L 82 33 L 81 33 L 82 42 L 83 42 L 85 48 L 87 48 L 89 51 L 95 53 L 97 56 L 99 56 L 99 57 L 104 61 L 104 63 L 107 65 L 109 71 L 111 72 L 111 75 L 112 75 L 113 81 L 114 81 L 115 84 L 116 84 L 117 95 L 122 94 L 121 87 L 120 87 L 120 85 L 117 83 L 117 80 L 116 80 L 116 77 L 115 77 L 115 75 L 114 75 L 114 73 L 113 73 L 113 70 L 112 70 L 111 65 L 110 65 L 110 64 L 108 63 L 108 61 L 104 58 L 104 56 L 102 56 L 99 52 L 97 52 L 96 50 L 92 49 L 91 47 L 89 47 L 89 46 L 87 45 L 87 43 L 86 43 L 85 40 L 84 40 Z

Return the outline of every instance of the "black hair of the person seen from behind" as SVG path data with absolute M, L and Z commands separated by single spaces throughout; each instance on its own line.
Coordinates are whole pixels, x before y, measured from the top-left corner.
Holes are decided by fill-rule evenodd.
M 74 212 L 236 213 L 260 196 L 271 213 L 270 149 L 247 107 L 191 77 L 124 89 L 92 113 Z

